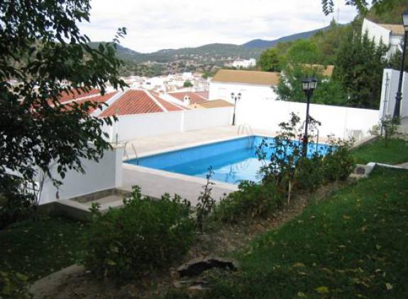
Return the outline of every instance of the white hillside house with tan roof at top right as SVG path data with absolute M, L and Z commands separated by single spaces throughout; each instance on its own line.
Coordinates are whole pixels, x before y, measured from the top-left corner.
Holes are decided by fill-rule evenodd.
M 382 40 L 382 43 L 390 46 L 390 50 L 386 55 L 387 59 L 390 59 L 397 50 L 402 52 L 401 43 L 402 38 L 404 38 L 404 26 L 399 24 L 377 24 L 365 18 L 361 31 L 362 34 L 367 32 L 368 38 L 373 39 L 377 45 Z

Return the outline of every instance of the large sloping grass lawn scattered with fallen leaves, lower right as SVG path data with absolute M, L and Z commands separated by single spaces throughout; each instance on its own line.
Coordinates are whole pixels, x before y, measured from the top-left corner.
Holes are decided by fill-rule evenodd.
M 253 241 L 204 298 L 407 298 L 408 171 L 376 168 Z

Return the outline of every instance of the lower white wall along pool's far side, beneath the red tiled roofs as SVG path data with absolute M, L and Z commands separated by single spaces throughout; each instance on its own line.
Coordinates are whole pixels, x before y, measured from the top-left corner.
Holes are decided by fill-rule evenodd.
M 232 123 L 233 107 L 191 109 L 118 116 L 113 126 L 104 126 L 109 141 L 118 142 L 148 136 L 228 126 Z

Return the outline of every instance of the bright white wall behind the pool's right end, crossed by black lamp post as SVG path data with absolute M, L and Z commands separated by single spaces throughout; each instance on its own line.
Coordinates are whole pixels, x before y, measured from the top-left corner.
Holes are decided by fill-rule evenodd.
M 306 104 L 297 102 L 258 100 L 256 102 L 241 101 L 237 104 L 237 124 L 249 124 L 255 129 L 278 131 L 282 121 L 289 121 L 290 113 L 298 114 L 304 121 Z M 363 138 L 378 123 L 378 110 L 337 107 L 310 104 L 309 114 L 321 121 L 320 136 L 334 134 L 340 138 L 355 136 Z M 357 136 L 353 134 L 357 132 Z

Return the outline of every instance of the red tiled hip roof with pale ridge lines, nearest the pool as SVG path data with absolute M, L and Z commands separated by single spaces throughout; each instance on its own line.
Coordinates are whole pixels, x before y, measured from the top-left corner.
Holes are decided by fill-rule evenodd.
M 131 89 L 116 99 L 116 101 L 99 116 L 105 117 L 113 115 L 165 112 L 165 109 L 162 109 L 160 104 L 162 107 L 165 107 L 167 111 L 182 110 L 176 105 L 170 104 L 153 94 L 150 96 L 145 90 Z

